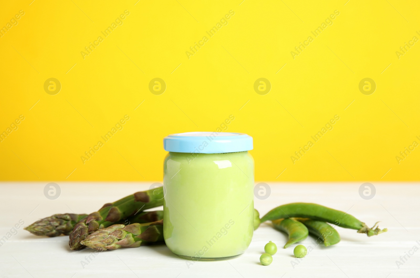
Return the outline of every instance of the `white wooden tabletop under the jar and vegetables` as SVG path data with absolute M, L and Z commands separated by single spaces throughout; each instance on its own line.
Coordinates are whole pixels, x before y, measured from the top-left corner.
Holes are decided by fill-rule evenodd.
M 375 197 L 364 200 L 359 195 L 360 183 L 270 183 L 271 195 L 266 200 L 255 198 L 255 208 L 263 215 L 277 205 L 312 202 L 347 211 L 373 225 L 381 220 L 388 232 L 368 238 L 355 230 L 337 228 L 341 242 L 331 247 L 318 247 L 309 236 L 302 244 L 314 250 L 299 261 L 293 248 L 281 247 L 286 235 L 264 223 L 254 232 L 251 245 L 232 260 L 194 262 L 181 259 L 165 246 L 142 246 L 118 249 L 88 256 L 92 249 L 71 252 L 68 236 L 39 237 L 18 229 L 0 247 L 0 277 L 420 277 L 420 184 L 373 183 Z M 0 183 L 0 237 L 19 220 L 27 226 L 54 213 L 90 213 L 102 204 L 140 190 L 150 183 L 64 183 L 60 197 L 49 200 L 43 183 Z M 262 266 L 259 257 L 268 241 L 279 247 L 273 263 Z M 416 241 L 418 241 L 416 243 Z M 410 257 L 406 254 L 412 253 Z M 401 261 L 400 256 L 407 260 Z M 87 260 L 88 259 L 88 260 Z M 81 262 L 88 262 L 82 267 Z M 396 261 L 402 265 L 399 268 Z M 106 275 L 106 276 L 105 276 Z

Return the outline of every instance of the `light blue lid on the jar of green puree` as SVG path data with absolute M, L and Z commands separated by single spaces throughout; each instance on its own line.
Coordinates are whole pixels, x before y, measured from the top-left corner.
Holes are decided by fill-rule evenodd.
M 176 153 L 236 153 L 252 150 L 252 137 L 245 133 L 186 132 L 163 138 L 165 151 Z

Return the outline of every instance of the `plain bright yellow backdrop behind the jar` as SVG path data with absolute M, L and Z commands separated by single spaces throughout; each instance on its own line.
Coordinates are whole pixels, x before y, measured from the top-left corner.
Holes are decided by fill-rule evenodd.
M 254 138 L 256 180 L 420 178 L 420 147 L 396 161 L 420 143 L 420 42 L 400 59 L 395 53 L 420 39 L 418 1 L 1 6 L 0 26 L 25 12 L 0 38 L 0 132 L 25 117 L 0 143 L 1 180 L 161 180 L 165 135 L 214 131 L 229 115 L 235 120 L 227 131 Z M 124 10 L 123 24 L 83 58 Z M 206 31 L 229 10 L 234 16 L 210 38 Z M 315 38 L 311 31 L 334 10 L 339 16 Z M 203 36 L 208 42 L 188 58 Z M 308 36 L 313 42 L 293 59 Z M 58 94 L 44 91 L 48 78 L 60 81 Z M 165 81 L 163 94 L 149 91 L 152 78 Z M 270 81 L 268 94 L 254 91 L 257 78 Z M 362 78 L 375 81 L 373 94 L 359 91 Z M 123 130 L 83 163 L 84 152 L 126 114 Z M 293 164 L 294 152 L 334 115 L 333 130 Z

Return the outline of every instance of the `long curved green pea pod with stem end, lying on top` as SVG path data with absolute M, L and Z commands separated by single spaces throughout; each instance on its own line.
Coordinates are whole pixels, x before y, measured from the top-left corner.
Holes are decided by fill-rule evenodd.
M 290 217 L 311 218 L 313 220 L 333 223 L 343 228 L 358 230 L 358 233 L 367 234 L 367 236 L 388 231 L 388 229 L 379 229 L 376 226 L 378 222 L 372 228 L 369 228 L 365 223 L 348 213 L 312 203 L 291 203 L 278 206 L 265 214 L 261 218 L 261 222 Z

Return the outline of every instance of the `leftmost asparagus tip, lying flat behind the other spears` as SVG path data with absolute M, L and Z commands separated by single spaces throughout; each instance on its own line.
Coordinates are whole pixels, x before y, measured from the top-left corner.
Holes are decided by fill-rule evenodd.
M 42 218 L 24 228 L 37 236 L 60 236 L 68 235 L 73 231 L 74 225 L 86 218 L 87 214 L 54 214 L 50 217 Z

